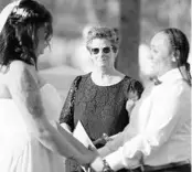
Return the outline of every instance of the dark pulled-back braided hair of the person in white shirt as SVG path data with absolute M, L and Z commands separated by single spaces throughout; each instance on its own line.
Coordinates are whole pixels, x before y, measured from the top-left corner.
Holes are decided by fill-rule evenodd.
M 168 35 L 173 52 L 177 51 L 179 52 L 180 56 L 175 57 L 175 61 L 178 63 L 178 68 L 180 69 L 181 66 L 185 66 L 188 72 L 188 83 L 191 85 L 190 64 L 188 63 L 190 44 L 185 34 L 175 28 L 164 29 L 161 32 Z

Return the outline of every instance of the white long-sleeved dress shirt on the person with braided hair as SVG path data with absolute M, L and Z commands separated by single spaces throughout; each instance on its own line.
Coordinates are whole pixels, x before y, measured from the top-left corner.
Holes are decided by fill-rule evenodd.
M 191 87 L 178 68 L 159 79 L 160 85 L 146 88 L 124 132 L 106 146 L 113 170 L 135 169 L 141 159 L 151 166 L 190 161 Z

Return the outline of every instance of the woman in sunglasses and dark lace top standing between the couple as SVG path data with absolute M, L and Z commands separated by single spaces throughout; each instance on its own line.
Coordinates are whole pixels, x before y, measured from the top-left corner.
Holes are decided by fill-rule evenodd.
M 81 120 L 88 137 L 100 148 L 105 143 L 97 140 L 104 133 L 114 136 L 129 123 L 126 104 L 129 99 L 140 98 L 143 87 L 115 68 L 119 37 L 114 29 L 92 28 L 87 33 L 86 46 L 94 64 L 93 71 L 74 79 L 60 122 L 73 132 Z M 66 161 L 66 172 L 79 170 L 78 164 Z

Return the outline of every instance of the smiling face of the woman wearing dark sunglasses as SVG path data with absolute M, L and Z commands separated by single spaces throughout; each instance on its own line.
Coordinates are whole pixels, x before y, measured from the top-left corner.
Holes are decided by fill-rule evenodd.
M 116 53 L 105 39 L 94 39 L 89 44 L 90 57 L 96 67 L 114 67 Z

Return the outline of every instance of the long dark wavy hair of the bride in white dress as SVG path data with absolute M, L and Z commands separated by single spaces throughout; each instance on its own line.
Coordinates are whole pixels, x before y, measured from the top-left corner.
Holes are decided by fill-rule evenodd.
M 21 0 L 0 33 L 0 64 L 8 66 L 19 60 L 36 67 L 35 50 L 40 28 L 45 29 L 45 41 L 49 44 L 53 34 L 51 13 L 34 0 Z

